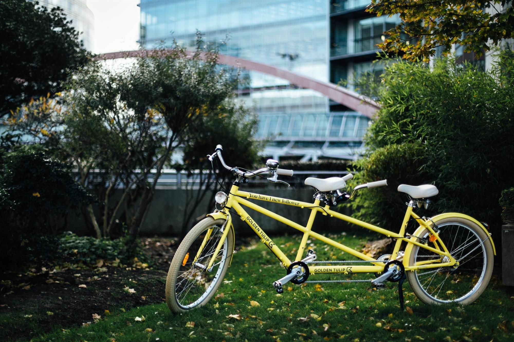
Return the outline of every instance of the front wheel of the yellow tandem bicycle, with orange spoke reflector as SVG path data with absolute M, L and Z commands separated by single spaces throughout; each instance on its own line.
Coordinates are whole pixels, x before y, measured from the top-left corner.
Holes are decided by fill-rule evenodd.
M 214 257 L 211 272 L 207 265 L 222 237 L 223 219 L 207 217 L 198 222 L 178 246 L 166 279 L 166 302 L 174 313 L 205 305 L 227 272 L 234 235 L 230 227 L 221 250 Z

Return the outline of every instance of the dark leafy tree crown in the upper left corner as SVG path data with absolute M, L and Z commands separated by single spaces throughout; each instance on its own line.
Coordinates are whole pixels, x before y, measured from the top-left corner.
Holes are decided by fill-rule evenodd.
M 59 91 L 70 70 L 88 59 L 79 33 L 58 7 L 3 0 L 0 32 L 0 117 L 31 98 Z

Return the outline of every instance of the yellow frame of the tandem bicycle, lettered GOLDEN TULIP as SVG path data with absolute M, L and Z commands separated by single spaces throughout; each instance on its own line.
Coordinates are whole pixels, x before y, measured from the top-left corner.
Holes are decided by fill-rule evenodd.
M 291 206 L 300 207 L 302 209 L 310 209 L 311 212 L 309 215 L 309 219 L 307 221 L 307 225 L 302 226 L 302 225 L 300 225 L 296 222 L 293 222 L 283 216 L 277 215 L 259 205 L 256 205 L 255 203 L 248 201 L 248 199 L 291 205 Z M 405 255 L 403 256 L 403 266 L 405 267 L 406 271 L 414 271 L 414 270 L 418 270 L 418 269 L 439 268 L 439 267 L 447 267 L 447 266 L 453 266 L 453 267 L 458 266 L 457 260 L 455 260 L 450 255 L 448 249 L 446 248 L 443 241 L 439 238 L 437 232 L 435 232 L 432 229 L 432 221 L 424 220 L 424 219 L 420 218 L 419 216 L 417 216 L 415 213 L 413 213 L 411 206 L 407 207 L 407 212 L 405 213 L 405 216 L 403 217 L 403 223 L 401 225 L 400 232 L 394 233 L 394 232 L 388 231 L 386 229 L 380 228 L 378 226 L 375 226 L 373 224 L 369 224 L 369 223 L 354 219 L 350 216 L 346 216 L 341 213 L 335 212 L 335 211 L 331 210 L 330 206 L 328 206 L 328 205 L 321 206 L 320 200 L 315 200 L 314 203 L 307 203 L 307 202 L 290 200 L 290 199 L 285 199 L 285 198 L 280 198 L 280 197 L 248 193 L 248 192 L 244 192 L 244 191 L 239 191 L 239 187 L 237 185 L 232 185 L 232 188 L 230 189 L 230 193 L 228 195 L 227 202 L 226 202 L 224 208 L 219 212 L 208 215 L 214 219 L 222 218 L 222 219 L 228 220 L 228 222 L 226 224 L 226 229 L 223 231 L 221 239 L 219 239 L 219 243 L 216 247 L 216 250 L 215 250 L 213 256 L 217 255 L 219 250 L 221 249 L 223 242 L 225 241 L 225 238 L 229 232 L 229 229 L 233 230 L 232 219 L 231 219 L 231 216 L 229 213 L 229 209 L 233 208 L 236 211 L 236 213 L 241 217 L 241 219 L 243 221 L 245 221 L 250 226 L 250 228 L 255 232 L 255 234 L 257 234 L 260 237 L 261 242 L 264 243 L 275 256 L 277 256 L 277 258 L 282 262 L 282 265 L 284 267 L 287 268 L 291 264 L 292 261 L 287 258 L 287 256 L 280 250 L 280 248 L 277 246 L 277 244 L 275 244 L 271 240 L 271 238 L 250 217 L 250 215 L 248 215 L 248 213 L 243 209 L 243 207 L 241 205 L 247 206 L 259 213 L 269 216 L 274 220 L 285 223 L 288 226 L 291 226 L 294 229 L 299 230 L 300 232 L 303 233 L 302 241 L 300 242 L 300 246 L 298 248 L 298 253 L 296 255 L 295 260 L 293 260 L 293 261 L 302 260 L 303 254 L 305 252 L 305 246 L 307 244 L 307 240 L 309 238 L 313 237 L 313 238 L 316 238 L 328 245 L 334 246 L 335 248 L 337 248 L 341 251 L 344 251 L 348 254 L 356 256 L 362 260 L 368 260 L 368 261 L 370 261 L 370 263 L 373 264 L 373 265 L 367 265 L 367 266 L 359 266 L 359 265 L 309 266 L 308 268 L 309 268 L 310 274 L 316 274 L 316 273 L 342 273 L 342 274 L 381 273 L 384 270 L 383 262 L 377 261 L 376 259 L 374 259 L 368 255 L 365 255 L 365 254 L 360 253 L 352 248 L 345 246 L 344 244 L 341 244 L 341 243 L 334 241 L 330 238 L 327 238 L 321 234 L 313 232 L 312 226 L 313 226 L 316 214 L 318 212 L 321 212 L 323 215 L 329 215 L 331 217 L 335 217 L 340 220 L 359 225 L 359 226 L 369 229 L 371 231 L 374 231 L 374 232 L 380 233 L 382 235 L 386 235 L 387 237 L 392 237 L 392 238 L 396 239 L 396 243 L 394 245 L 391 260 L 396 259 L 397 254 L 400 251 L 401 242 L 406 241 L 407 248 L 405 250 Z M 476 221 L 475 219 L 473 219 L 467 215 L 463 215 L 463 214 L 458 214 L 458 213 L 442 214 L 442 215 L 438 215 L 438 216 L 432 218 L 432 220 L 437 221 L 437 220 L 445 218 L 445 217 L 462 217 L 462 218 L 470 219 L 473 222 L 479 224 L 482 227 L 482 229 L 487 233 L 487 230 L 480 222 Z M 409 222 L 410 218 L 415 219 L 419 223 L 419 227 L 412 236 L 406 236 L 405 230 L 406 230 L 407 223 Z M 416 234 L 420 234 L 425 229 L 428 229 L 430 234 L 435 236 L 435 238 L 436 238 L 436 240 L 434 241 L 435 248 L 429 246 L 428 244 L 424 244 L 424 243 L 421 243 L 418 241 L 421 239 Z M 494 248 L 494 244 L 493 244 L 490 236 L 489 236 L 489 239 L 492 244 L 494 255 L 496 255 L 496 250 Z M 433 259 L 433 260 L 424 260 L 421 262 L 417 262 L 415 265 L 409 265 L 410 253 L 411 253 L 414 245 L 420 246 L 421 248 L 424 248 L 428 251 L 436 253 L 440 256 L 440 258 Z M 443 258 L 445 256 L 448 257 L 449 261 L 445 262 L 445 263 L 440 262 L 443 260 Z M 209 262 L 209 265 L 207 267 L 208 270 L 212 267 L 213 263 L 214 263 L 214 257 L 212 257 Z

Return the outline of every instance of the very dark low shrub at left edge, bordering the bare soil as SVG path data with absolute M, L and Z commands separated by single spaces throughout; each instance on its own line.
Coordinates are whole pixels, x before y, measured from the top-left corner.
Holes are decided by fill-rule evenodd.
M 59 220 L 90 197 L 69 167 L 48 159 L 38 147 L 21 147 L 2 157 L 0 258 L 6 262 L 0 269 L 50 263 L 59 257 L 52 236 Z

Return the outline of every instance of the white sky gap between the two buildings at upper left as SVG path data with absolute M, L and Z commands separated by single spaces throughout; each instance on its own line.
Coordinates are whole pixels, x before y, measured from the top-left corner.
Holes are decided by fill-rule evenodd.
M 139 0 L 87 0 L 95 15 L 93 53 L 139 48 Z

